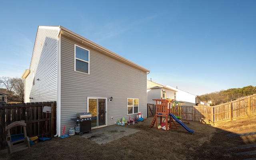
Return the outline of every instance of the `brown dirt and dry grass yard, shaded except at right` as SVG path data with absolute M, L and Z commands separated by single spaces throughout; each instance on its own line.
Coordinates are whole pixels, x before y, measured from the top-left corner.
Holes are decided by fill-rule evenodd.
M 134 125 L 140 130 L 106 144 L 96 144 L 78 134 L 67 138 L 52 138 L 38 142 L 30 149 L 9 154 L 0 151 L 0 160 L 254 160 L 256 159 L 256 116 L 204 124 L 189 121 L 188 128 L 169 131 L 149 128 L 153 117 Z M 177 123 L 178 124 L 178 123 Z M 88 133 L 90 134 L 90 133 Z

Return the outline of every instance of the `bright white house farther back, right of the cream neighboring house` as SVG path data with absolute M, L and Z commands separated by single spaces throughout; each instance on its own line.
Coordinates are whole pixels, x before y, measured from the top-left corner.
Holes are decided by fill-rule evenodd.
M 177 87 L 174 88 L 170 85 L 166 85 L 166 87 L 170 89 L 175 89 L 178 92 L 176 93 L 176 101 L 182 101 L 182 105 L 186 106 L 195 106 L 199 103 L 199 98 L 196 95 L 192 95 L 191 93 L 188 93 L 186 91 L 182 91 L 178 89 Z

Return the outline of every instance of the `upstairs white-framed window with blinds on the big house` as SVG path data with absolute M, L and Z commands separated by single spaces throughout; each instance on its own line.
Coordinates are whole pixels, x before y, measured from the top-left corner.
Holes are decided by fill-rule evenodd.
M 75 71 L 89 74 L 89 56 L 88 49 L 75 45 Z

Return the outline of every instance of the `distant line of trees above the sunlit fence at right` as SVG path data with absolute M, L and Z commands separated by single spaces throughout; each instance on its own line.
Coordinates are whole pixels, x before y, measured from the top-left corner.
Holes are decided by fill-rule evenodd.
M 205 95 L 200 95 L 198 97 L 200 98 L 201 101 L 212 101 L 212 104 L 210 105 L 219 105 L 221 103 L 234 101 L 241 97 L 253 95 L 254 93 L 256 93 L 256 87 L 249 85 L 243 88 L 233 88 L 213 93 L 207 93 Z

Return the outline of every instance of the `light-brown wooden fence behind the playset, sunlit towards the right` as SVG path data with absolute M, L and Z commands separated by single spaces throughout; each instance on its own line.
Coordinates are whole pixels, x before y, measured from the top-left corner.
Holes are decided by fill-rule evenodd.
M 148 104 L 147 106 L 148 116 L 154 116 L 155 104 Z M 236 120 L 256 115 L 256 94 L 213 107 L 181 106 L 181 109 L 188 120 L 204 123 Z M 182 115 L 182 118 L 185 117 Z

